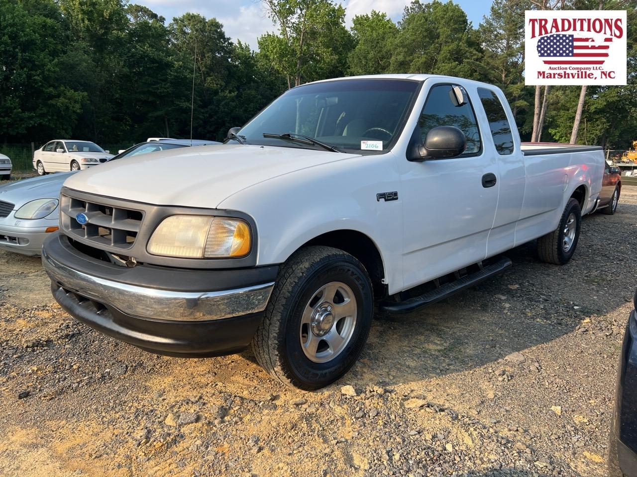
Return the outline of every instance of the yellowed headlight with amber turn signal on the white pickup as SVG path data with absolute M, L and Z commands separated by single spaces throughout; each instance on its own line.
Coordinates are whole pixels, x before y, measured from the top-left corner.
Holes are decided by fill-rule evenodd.
M 239 258 L 250 252 L 250 227 L 241 219 L 171 216 L 148 242 L 148 253 L 180 258 Z

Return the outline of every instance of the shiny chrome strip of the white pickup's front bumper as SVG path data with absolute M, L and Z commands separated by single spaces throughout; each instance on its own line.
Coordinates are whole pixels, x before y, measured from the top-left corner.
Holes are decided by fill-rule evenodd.
M 63 289 L 132 317 L 164 321 L 209 321 L 262 312 L 274 282 L 222 291 L 183 292 L 135 286 L 93 277 L 56 261 L 42 250 L 50 279 Z

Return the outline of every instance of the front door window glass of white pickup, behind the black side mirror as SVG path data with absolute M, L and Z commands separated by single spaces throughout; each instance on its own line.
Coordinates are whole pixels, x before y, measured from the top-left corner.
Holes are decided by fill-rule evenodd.
M 433 86 L 427 95 L 425 107 L 420 114 L 418 125 L 420 127 L 420 137 L 425 141 L 427 133 L 434 127 L 454 126 L 464 132 L 467 138 L 467 148 L 463 155 L 476 154 L 482 149 L 480 142 L 480 130 L 473 107 L 469 100 L 469 95 L 464 93 L 467 102 L 464 104 L 454 104 L 452 100 L 452 85 Z

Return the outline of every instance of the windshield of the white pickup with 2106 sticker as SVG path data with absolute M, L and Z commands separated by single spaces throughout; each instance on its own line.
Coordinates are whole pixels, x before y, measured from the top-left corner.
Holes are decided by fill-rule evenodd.
M 238 135 L 248 144 L 322 149 L 308 141 L 291 141 L 290 136 L 263 137 L 292 134 L 341 150 L 383 151 L 400 134 L 419 86 L 408 79 L 339 79 L 297 86 L 252 118 Z

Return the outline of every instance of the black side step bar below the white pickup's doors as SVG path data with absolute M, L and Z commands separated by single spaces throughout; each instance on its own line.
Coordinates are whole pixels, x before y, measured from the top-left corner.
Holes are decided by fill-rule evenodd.
M 433 305 L 440 300 L 444 300 L 445 298 L 452 296 L 454 293 L 477 285 L 494 275 L 504 272 L 511 265 L 512 262 L 510 259 L 502 257 L 496 263 L 485 266 L 478 272 L 465 275 L 461 279 L 446 283 L 443 286 L 432 291 L 428 291 L 420 296 L 414 296 L 413 298 L 404 301 L 383 300 L 380 302 L 380 309 L 383 312 L 407 313 L 417 310 L 418 308 L 426 307 L 427 305 Z

